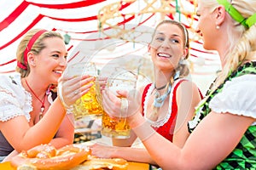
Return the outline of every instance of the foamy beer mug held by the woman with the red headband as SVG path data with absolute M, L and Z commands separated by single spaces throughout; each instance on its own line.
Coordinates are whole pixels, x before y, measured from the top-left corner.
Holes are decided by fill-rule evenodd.
M 76 63 L 68 65 L 64 74 L 70 77 L 79 77 L 82 75 L 90 75 L 95 77 L 92 82 L 93 86 L 80 99 L 77 99 L 73 105 L 73 115 L 75 120 L 89 117 L 90 119 L 102 116 L 102 96 L 100 92 L 96 65 L 94 63 Z

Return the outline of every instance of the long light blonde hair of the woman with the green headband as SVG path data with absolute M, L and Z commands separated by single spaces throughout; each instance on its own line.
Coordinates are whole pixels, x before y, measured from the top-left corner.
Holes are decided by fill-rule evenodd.
M 236 8 L 240 14 L 247 19 L 256 12 L 255 0 L 227 0 Z M 210 10 L 214 10 L 219 4 L 217 0 L 201 0 L 201 3 Z M 230 16 L 231 17 L 231 16 Z M 230 75 L 231 71 L 236 71 L 237 67 L 243 63 L 256 58 L 256 26 L 255 24 L 250 28 L 246 28 L 233 20 L 233 25 L 227 27 L 228 42 L 230 48 L 226 51 L 225 67 L 219 72 L 218 78 L 215 82 L 215 88 L 218 87 L 224 79 Z M 236 32 L 240 35 L 239 39 L 235 39 L 232 35 Z

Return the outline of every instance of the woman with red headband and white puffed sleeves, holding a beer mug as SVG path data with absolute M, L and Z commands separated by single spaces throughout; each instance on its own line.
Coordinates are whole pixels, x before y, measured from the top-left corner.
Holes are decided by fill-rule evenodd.
M 54 93 L 67 67 L 67 49 L 55 31 L 28 31 L 17 49 L 16 73 L 0 75 L 0 157 L 38 144 L 61 148 L 73 144 L 73 114 Z M 88 91 L 91 78 L 63 77 L 67 103 Z M 81 82 L 81 83 L 78 83 Z M 59 82 L 60 83 L 60 82 Z M 80 92 L 75 94 L 74 92 Z M 9 156 L 11 157 L 11 156 Z

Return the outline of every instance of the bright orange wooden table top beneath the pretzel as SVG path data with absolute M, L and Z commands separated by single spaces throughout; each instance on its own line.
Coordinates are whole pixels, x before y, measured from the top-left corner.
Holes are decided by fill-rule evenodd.
M 9 161 L 5 161 L 3 163 L 0 163 L 0 169 L 2 170 L 15 170 L 14 167 L 11 167 Z M 132 162 L 129 161 L 129 167 L 128 170 L 148 170 L 149 165 L 147 163 L 139 163 L 139 162 Z

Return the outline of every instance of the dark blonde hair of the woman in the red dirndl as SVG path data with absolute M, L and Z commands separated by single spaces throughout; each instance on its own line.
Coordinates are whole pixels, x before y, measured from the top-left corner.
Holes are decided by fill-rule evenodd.
M 185 26 L 183 26 L 183 24 L 181 22 L 178 22 L 177 20 L 162 20 L 155 27 L 152 37 L 154 37 L 157 28 L 163 24 L 171 24 L 171 25 L 178 26 L 181 29 L 181 31 L 183 31 L 183 47 L 188 48 L 188 54 L 184 57 L 184 59 L 188 59 L 189 58 L 189 31 L 186 29 Z M 189 66 L 179 63 L 179 65 L 177 65 L 177 68 L 175 69 L 175 71 L 176 72 L 179 71 L 179 77 L 186 77 L 189 75 Z

